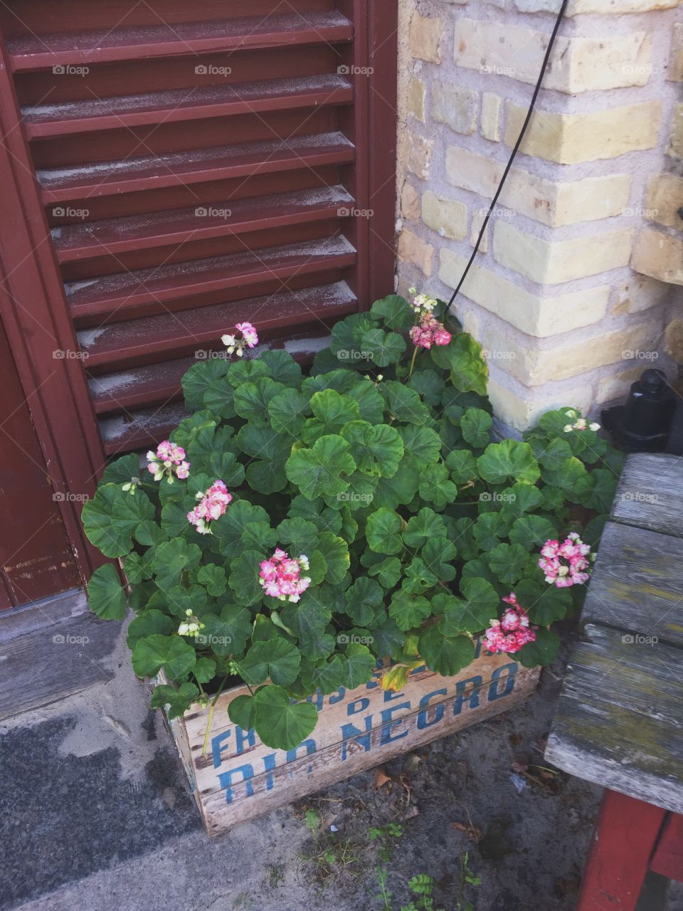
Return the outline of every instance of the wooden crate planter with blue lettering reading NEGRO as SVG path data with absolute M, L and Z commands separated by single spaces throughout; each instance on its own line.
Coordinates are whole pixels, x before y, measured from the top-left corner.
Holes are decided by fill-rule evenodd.
M 206 756 L 208 709 L 192 705 L 168 722 L 209 835 L 519 705 L 535 691 L 540 669 L 478 649 L 454 677 L 418 668 L 398 693 L 380 689 L 380 672 L 355 690 L 311 696 L 318 725 L 290 751 L 272 750 L 229 721 L 229 702 L 249 694 L 246 687 L 219 697 Z

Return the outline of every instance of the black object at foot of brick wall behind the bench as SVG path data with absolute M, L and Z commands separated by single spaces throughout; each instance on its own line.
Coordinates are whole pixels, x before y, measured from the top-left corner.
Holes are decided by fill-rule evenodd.
M 602 423 L 626 452 L 664 452 L 675 410 L 676 395 L 666 374 L 650 367 L 631 385 L 627 404 L 602 412 Z M 683 426 L 680 434 L 683 442 Z

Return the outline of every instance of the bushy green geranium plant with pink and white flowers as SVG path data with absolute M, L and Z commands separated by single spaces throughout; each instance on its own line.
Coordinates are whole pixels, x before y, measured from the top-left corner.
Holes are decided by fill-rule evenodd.
M 359 686 L 378 660 L 398 690 L 422 664 L 465 668 L 477 636 L 525 666 L 555 658 L 618 455 L 567 408 L 495 441 L 481 347 L 443 310 L 375 302 L 335 325 L 308 375 L 249 352 L 241 323 L 233 360 L 183 378 L 191 416 L 148 471 L 138 455 L 107 466 L 83 521 L 129 585 L 98 568 L 90 606 L 135 611 L 133 668 L 170 681 L 152 705 L 177 716 L 244 681 L 230 719 L 291 749 L 317 720 L 307 697 Z

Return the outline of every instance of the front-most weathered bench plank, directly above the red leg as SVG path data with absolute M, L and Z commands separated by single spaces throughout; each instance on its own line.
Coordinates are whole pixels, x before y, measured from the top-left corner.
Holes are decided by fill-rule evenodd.
M 560 769 L 683 813 L 680 650 L 590 625 L 567 670 L 545 758 Z

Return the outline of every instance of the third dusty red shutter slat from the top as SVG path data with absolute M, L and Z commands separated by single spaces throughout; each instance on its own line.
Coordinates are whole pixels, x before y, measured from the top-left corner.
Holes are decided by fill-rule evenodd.
M 252 174 L 347 164 L 353 161 L 354 155 L 353 144 L 343 133 L 314 133 L 286 141 L 246 142 L 74 168 L 42 169 L 36 172 L 36 177 L 43 188 L 43 200 L 51 204 Z

